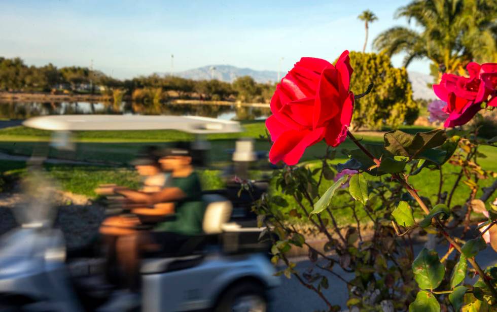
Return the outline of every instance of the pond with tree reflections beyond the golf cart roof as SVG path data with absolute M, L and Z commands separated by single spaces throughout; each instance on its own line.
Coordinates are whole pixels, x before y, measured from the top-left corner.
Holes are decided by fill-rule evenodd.
M 209 104 L 0 102 L 0 118 L 4 119 L 27 119 L 35 116 L 69 114 L 191 115 L 227 120 L 254 120 L 266 118 L 269 116 L 270 110 L 269 108 Z

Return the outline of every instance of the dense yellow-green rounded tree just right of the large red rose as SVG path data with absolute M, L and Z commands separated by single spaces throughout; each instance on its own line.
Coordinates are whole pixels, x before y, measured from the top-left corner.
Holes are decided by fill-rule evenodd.
M 418 107 L 412 99 L 407 71 L 395 68 L 386 54 L 350 52 L 354 74 L 350 82 L 354 94 L 364 92 L 374 83 L 373 92 L 357 99 L 354 105 L 354 128 L 378 129 L 387 124 L 398 127 L 417 118 Z

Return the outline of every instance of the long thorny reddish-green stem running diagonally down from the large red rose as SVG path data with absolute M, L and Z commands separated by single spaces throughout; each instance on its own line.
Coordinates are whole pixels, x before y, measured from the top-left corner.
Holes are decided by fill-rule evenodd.
M 359 141 L 355 140 L 355 138 L 353 137 L 353 135 L 351 135 L 351 133 L 347 130 L 347 135 L 349 135 L 350 139 L 359 147 L 361 148 L 361 150 L 365 151 L 366 148 L 364 148 L 361 143 L 359 143 Z M 371 155 L 371 153 L 369 152 L 365 152 L 365 154 L 370 157 L 373 161 L 377 160 L 376 158 L 374 158 L 374 156 Z M 378 160 L 379 162 L 379 160 Z M 375 161 L 376 163 L 376 161 Z M 425 214 L 429 215 L 430 214 L 430 210 L 428 209 L 427 205 L 423 202 L 423 200 L 421 199 L 421 197 L 419 197 L 417 191 L 412 188 L 409 183 L 407 182 L 407 179 L 405 178 L 405 176 L 400 176 L 398 174 L 394 174 L 392 175 L 392 177 L 396 180 L 398 180 L 400 182 L 400 184 L 409 192 L 409 194 L 411 194 L 411 196 L 417 201 L 417 203 L 419 204 L 419 206 L 421 207 L 421 209 L 424 211 Z M 452 246 L 454 246 L 454 248 L 460 253 L 462 254 L 463 251 L 461 250 L 461 247 L 459 244 L 457 244 L 457 242 L 445 231 L 444 229 L 444 226 L 443 224 L 440 222 L 440 220 L 438 219 L 438 217 L 435 217 L 434 220 L 436 221 L 437 225 L 438 225 L 438 228 L 440 230 L 440 233 L 442 233 L 442 235 L 445 237 L 445 239 L 447 239 L 448 242 L 450 242 L 450 244 L 452 244 Z M 495 290 L 495 288 L 493 287 L 493 285 L 490 283 L 490 281 L 488 281 L 486 279 L 486 274 L 485 272 L 483 272 L 483 270 L 481 269 L 481 267 L 478 265 L 478 263 L 476 262 L 475 260 L 475 257 L 471 257 L 471 258 L 467 258 L 468 262 L 473 266 L 473 268 L 475 268 L 475 270 L 478 272 L 478 274 L 480 275 L 481 279 L 483 280 L 483 282 L 485 283 L 485 285 L 488 287 L 488 289 L 490 290 L 490 292 L 492 293 L 492 295 L 497 298 L 497 290 Z

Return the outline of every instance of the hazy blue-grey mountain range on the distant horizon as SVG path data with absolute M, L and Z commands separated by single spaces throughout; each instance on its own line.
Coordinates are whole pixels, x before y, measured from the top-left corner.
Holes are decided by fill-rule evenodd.
M 169 73 L 159 74 L 168 75 Z M 280 74 L 282 77 L 287 73 L 281 72 Z M 428 83 L 433 82 L 433 78 L 430 75 L 418 72 L 409 72 L 408 74 L 415 99 L 435 99 L 435 93 L 427 86 Z M 226 82 L 233 82 L 237 77 L 242 76 L 251 76 L 255 81 L 260 83 L 275 82 L 278 79 L 278 73 L 274 71 L 256 71 L 251 68 L 239 68 L 231 65 L 208 65 L 184 72 L 176 72 L 173 73 L 173 75 L 193 80 L 208 80 L 215 78 Z

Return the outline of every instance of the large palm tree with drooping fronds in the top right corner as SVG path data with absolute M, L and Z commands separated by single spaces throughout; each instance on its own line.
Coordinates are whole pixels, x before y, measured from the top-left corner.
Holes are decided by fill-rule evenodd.
M 390 56 L 406 53 L 404 66 L 428 58 L 440 73 L 454 73 L 471 60 L 497 59 L 496 0 L 413 0 L 395 17 L 414 20 L 420 30 L 392 27 L 373 46 Z

